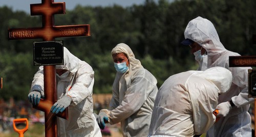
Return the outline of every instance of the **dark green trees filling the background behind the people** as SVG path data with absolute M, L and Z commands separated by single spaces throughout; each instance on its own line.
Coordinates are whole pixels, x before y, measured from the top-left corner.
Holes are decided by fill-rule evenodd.
M 181 46 L 188 21 L 202 16 L 214 23 L 226 49 L 253 55 L 252 34 L 256 34 L 254 0 L 145 0 L 143 5 L 123 8 L 76 6 L 66 14 L 55 15 L 55 25 L 90 24 L 91 36 L 56 38 L 95 71 L 94 93 L 111 93 L 115 68 L 110 52 L 118 43 L 129 45 L 143 67 L 158 80 L 158 87 L 170 75 L 196 70 L 190 49 Z M 4 99 L 27 99 L 33 75 L 33 41 L 8 41 L 9 28 L 41 27 L 41 16 L 13 12 L 0 7 L 0 77 Z

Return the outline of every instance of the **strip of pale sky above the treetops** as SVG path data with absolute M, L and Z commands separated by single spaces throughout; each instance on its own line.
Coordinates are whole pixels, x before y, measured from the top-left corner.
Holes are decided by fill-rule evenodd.
M 143 5 L 145 0 L 55 0 L 54 2 L 65 2 L 67 10 L 73 10 L 76 5 L 82 6 L 113 6 L 114 4 L 130 7 L 134 4 Z M 39 4 L 41 0 L 0 0 L 0 7 L 8 6 L 13 11 L 25 11 L 30 13 L 30 4 Z

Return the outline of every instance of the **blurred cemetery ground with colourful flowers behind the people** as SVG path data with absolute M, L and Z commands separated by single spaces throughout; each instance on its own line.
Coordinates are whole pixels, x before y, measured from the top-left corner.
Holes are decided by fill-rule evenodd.
M 93 95 L 94 113 L 98 114 L 100 109 L 108 108 L 112 94 L 95 94 Z M 29 120 L 29 128 L 24 136 L 45 136 L 45 116 L 44 112 L 33 108 L 28 100 L 15 101 L 10 98 L 9 101 L 0 100 L 0 137 L 14 137 L 18 133 L 13 130 L 13 120 L 19 118 L 27 118 Z M 23 129 L 25 123 L 16 125 L 18 129 Z M 102 134 L 111 137 L 120 137 L 120 124 L 106 124 L 106 129 L 102 130 Z

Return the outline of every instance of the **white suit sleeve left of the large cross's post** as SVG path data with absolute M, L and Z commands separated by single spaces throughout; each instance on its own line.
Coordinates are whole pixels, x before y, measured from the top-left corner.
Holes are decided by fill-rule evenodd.
M 40 91 L 41 98 L 45 97 L 44 93 L 44 66 L 40 66 L 38 71 L 35 73 L 30 92 L 32 91 Z

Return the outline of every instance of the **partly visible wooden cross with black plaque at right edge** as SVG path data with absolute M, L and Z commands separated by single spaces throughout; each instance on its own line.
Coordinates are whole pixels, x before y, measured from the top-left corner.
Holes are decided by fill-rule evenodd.
M 252 44 L 256 45 L 256 35 L 252 36 Z M 256 67 L 256 56 L 230 56 L 229 67 Z M 256 71 L 253 69 L 248 70 L 248 97 L 254 98 L 254 130 L 256 129 Z M 252 83 L 254 83 L 252 85 Z M 256 131 L 254 132 L 256 136 Z

